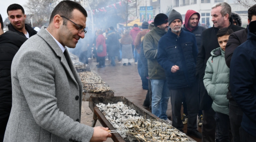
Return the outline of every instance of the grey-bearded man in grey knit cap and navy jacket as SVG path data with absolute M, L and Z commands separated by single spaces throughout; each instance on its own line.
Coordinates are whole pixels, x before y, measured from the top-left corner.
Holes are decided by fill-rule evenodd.
M 181 121 L 182 98 L 185 96 L 188 109 L 187 135 L 202 138 L 197 131 L 198 83 L 196 79 L 196 37 L 184 31 L 182 16 L 172 10 L 169 30 L 158 43 L 157 61 L 164 68 L 172 105 L 172 126 L 183 132 Z

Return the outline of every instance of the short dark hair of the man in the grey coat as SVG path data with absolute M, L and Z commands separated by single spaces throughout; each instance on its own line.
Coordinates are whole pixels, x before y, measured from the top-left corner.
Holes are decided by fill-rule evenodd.
M 72 12 L 74 9 L 79 10 L 85 17 L 87 17 L 87 12 L 80 4 L 70 0 L 61 1 L 56 7 L 54 8 L 52 15 L 50 16 L 50 22 L 53 21 L 55 15 L 65 16 L 69 19 L 73 18 Z M 66 25 L 67 20 L 63 18 L 63 25 Z

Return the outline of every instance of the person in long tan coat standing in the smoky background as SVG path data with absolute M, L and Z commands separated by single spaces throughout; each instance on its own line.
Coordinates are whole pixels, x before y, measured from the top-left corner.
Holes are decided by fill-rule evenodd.
M 133 62 L 133 53 L 132 53 L 132 43 L 133 39 L 129 34 L 129 31 L 127 30 L 124 35 L 121 38 L 122 44 L 122 63 L 126 66 L 126 63 L 128 65 L 131 65 L 130 63 Z

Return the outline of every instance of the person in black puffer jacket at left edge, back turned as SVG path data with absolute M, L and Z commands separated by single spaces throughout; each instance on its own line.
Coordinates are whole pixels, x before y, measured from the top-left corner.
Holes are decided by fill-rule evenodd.
M 0 27 L 0 142 L 2 142 L 12 106 L 11 63 L 14 55 L 27 39 L 11 31 L 4 33 L 1 15 Z

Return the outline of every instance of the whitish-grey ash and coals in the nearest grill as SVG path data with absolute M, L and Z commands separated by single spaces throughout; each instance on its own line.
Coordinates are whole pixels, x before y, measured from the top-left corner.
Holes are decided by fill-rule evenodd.
M 98 103 L 96 106 L 116 130 L 128 130 L 122 120 L 143 119 L 143 117 L 138 115 L 134 109 L 129 108 L 126 104 L 123 104 L 123 102 L 118 102 L 116 104 L 108 103 L 107 105 Z M 120 132 L 119 134 L 125 140 L 128 139 L 126 132 Z

